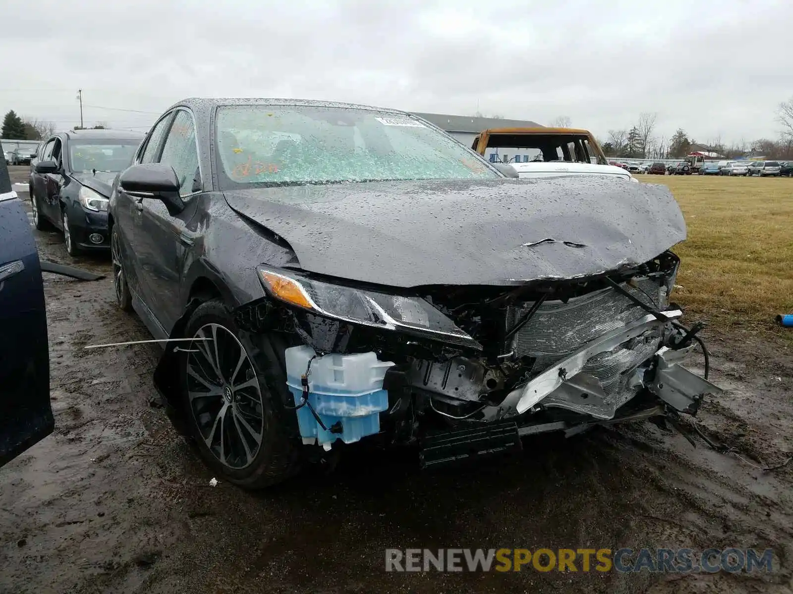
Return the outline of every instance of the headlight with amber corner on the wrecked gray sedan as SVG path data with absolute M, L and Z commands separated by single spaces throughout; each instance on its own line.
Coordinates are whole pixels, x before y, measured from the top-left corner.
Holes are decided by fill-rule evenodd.
M 420 297 L 389 295 L 309 279 L 294 272 L 256 268 L 269 295 L 328 318 L 481 349 L 481 345 Z

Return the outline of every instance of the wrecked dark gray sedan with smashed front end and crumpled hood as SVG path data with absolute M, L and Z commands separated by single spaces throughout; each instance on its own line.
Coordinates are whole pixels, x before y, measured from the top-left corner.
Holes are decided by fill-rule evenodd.
M 669 301 L 667 188 L 507 178 L 403 112 L 182 101 L 109 223 L 119 306 L 170 339 L 171 417 L 247 488 L 344 444 L 433 466 L 718 392 L 680 365 L 701 339 Z

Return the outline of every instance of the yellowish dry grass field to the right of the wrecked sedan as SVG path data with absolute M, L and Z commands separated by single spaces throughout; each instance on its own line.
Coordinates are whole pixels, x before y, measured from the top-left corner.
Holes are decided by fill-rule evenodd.
M 793 312 L 793 179 L 637 177 L 667 185 L 683 210 L 688 239 L 674 249 L 682 265 L 673 300 L 689 322 L 774 329 L 776 314 Z

